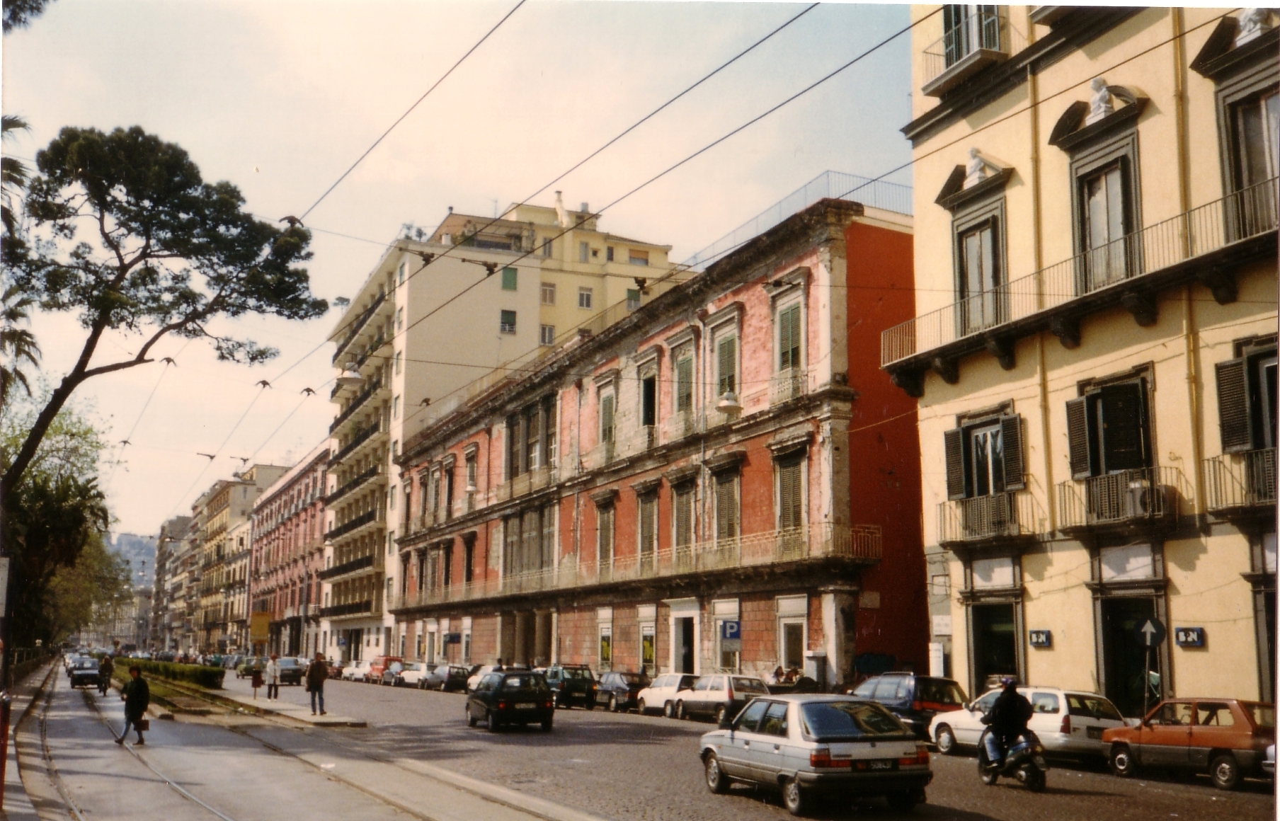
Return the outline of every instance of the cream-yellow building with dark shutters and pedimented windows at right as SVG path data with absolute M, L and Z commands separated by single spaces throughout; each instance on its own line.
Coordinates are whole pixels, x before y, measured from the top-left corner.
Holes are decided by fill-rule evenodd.
M 1275 15 L 913 18 L 934 670 L 1274 701 Z

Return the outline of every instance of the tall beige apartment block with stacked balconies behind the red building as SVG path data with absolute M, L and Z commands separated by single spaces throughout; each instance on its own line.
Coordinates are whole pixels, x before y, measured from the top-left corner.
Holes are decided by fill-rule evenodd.
M 557 193 L 554 207 L 512 205 L 500 217 L 451 210 L 434 233 L 407 233 L 383 254 L 329 335 L 328 655 L 384 655 L 390 641 L 402 442 L 669 289 L 684 278 L 668 251 L 602 233 L 586 203 L 567 211 Z

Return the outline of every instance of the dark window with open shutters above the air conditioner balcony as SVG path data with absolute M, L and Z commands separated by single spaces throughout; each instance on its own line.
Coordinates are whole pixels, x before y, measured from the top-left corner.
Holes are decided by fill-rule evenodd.
M 1071 478 L 1151 465 L 1147 380 L 1103 385 L 1066 403 Z

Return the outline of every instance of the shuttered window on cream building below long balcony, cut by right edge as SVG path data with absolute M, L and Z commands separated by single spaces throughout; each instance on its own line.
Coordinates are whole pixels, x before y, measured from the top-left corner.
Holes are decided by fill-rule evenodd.
M 1276 446 L 1276 348 L 1247 345 L 1215 366 L 1222 453 Z

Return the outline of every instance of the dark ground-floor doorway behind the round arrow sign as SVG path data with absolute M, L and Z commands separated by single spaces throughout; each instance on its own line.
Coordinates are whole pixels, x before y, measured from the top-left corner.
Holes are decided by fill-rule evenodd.
M 1162 693 L 1160 650 L 1148 653 L 1138 639 L 1138 627 L 1152 618 L 1156 618 L 1155 598 L 1102 600 L 1103 689 L 1121 715 L 1129 717 L 1142 715 L 1144 692 L 1148 707 Z

